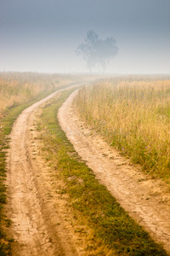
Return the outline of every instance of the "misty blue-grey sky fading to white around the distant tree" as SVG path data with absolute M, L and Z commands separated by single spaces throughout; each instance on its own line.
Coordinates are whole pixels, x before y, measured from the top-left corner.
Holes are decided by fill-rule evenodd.
M 106 73 L 170 73 L 170 0 L 0 0 L 0 71 L 86 73 L 90 30 L 116 39 Z

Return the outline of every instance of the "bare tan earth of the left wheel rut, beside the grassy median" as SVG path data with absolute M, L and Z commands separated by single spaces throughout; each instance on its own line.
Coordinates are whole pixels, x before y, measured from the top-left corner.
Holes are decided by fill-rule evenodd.
M 10 134 L 6 211 L 12 220 L 14 256 L 85 255 L 83 234 L 75 232 L 80 227 L 73 227 L 65 196 L 57 193 L 64 183 L 42 158 L 35 129 L 38 107 L 54 95 L 26 108 Z

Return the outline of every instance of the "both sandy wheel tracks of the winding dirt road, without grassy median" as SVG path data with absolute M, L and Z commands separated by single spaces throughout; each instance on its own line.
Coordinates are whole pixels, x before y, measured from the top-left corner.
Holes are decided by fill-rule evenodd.
M 52 171 L 39 155 L 36 140 L 38 108 L 57 94 L 59 91 L 26 108 L 10 134 L 8 217 L 13 223 L 14 256 L 85 255 L 81 254 L 81 242 L 78 245 L 74 240 L 71 224 L 64 220 L 61 223 L 62 203 L 54 191 L 52 175 L 49 177 Z M 62 129 L 99 182 L 105 184 L 122 207 L 170 252 L 169 188 L 159 180 L 145 179 L 142 172 L 78 118 L 71 104 L 76 94 L 77 91 L 73 92 L 59 108 Z

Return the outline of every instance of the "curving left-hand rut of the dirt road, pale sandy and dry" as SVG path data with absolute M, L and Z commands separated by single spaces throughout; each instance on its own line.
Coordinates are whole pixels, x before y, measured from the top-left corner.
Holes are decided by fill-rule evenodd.
M 76 86 L 72 85 L 71 87 Z M 43 199 L 40 198 L 37 191 L 35 170 L 29 152 L 31 113 L 60 91 L 62 90 L 58 90 L 26 108 L 14 122 L 10 134 L 7 158 L 7 207 L 8 218 L 12 220 L 11 232 L 15 241 L 13 256 L 77 255 L 74 248 L 62 245 L 59 242 L 59 237 L 55 237 L 55 243 L 51 239 L 52 235 L 48 232 L 48 224 L 43 216 L 43 207 L 45 206 L 43 206 Z

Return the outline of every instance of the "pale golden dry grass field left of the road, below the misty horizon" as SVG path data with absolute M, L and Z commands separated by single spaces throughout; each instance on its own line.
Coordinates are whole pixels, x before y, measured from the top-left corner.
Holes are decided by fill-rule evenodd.
M 0 113 L 30 102 L 42 93 L 80 81 L 80 76 L 43 73 L 0 73 Z

